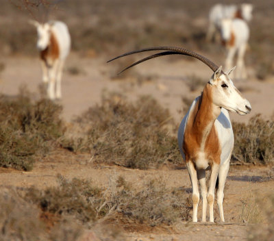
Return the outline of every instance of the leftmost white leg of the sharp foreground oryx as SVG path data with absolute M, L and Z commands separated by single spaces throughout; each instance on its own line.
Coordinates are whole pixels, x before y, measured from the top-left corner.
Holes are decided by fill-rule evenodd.
M 191 161 L 186 162 L 186 167 L 188 168 L 188 174 L 190 176 L 190 181 L 192 184 L 192 203 L 193 203 L 193 222 L 197 222 L 197 212 L 199 205 L 199 189 L 198 189 L 198 179 L 197 179 L 197 171 Z

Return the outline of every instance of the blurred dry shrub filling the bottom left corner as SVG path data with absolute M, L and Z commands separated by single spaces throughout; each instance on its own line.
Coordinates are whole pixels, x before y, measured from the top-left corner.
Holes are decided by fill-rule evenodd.
M 0 240 L 75 241 L 84 233 L 84 227 L 72 218 L 61 216 L 52 222 L 49 215 L 41 214 L 37 205 L 22 198 L 25 191 L 31 190 L 1 189 Z

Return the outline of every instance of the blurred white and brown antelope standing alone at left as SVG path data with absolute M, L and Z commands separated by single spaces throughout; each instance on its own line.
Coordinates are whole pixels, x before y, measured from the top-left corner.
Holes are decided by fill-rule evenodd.
M 37 48 L 40 51 L 42 80 L 47 84 L 49 99 L 60 99 L 64 60 L 71 49 L 68 27 L 61 21 L 38 23 L 30 21 L 38 33 Z

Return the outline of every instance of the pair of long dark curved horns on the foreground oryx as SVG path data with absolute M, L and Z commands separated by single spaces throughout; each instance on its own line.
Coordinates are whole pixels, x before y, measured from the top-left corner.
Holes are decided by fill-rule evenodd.
M 135 62 L 134 64 L 132 64 L 131 66 L 127 67 L 130 68 L 132 66 L 135 66 L 136 64 L 140 64 L 141 62 L 144 62 L 146 60 L 150 60 L 151 58 L 157 58 L 160 56 L 164 56 L 164 55 L 171 55 L 171 54 L 182 54 L 182 55 L 188 55 L 188 56 L 192 56 L 194 58 L 197 58 L 198 60 L 201 60 L 201 62 L 205 63 L 207 66 L 209 66 L 212 71 L 216 71 L 219 66 L 216 66 L 216 64 L 214 64 L 212 61 L 208 60 L 206 57 L 203 57 L 202 55 L 199 55 L 198 53 L 195 53 L 193 51 L 190 51 L 188 49 L 182 49 L 179 47 L 151 47 L 151 48 L 146 48 L 146 49 L 140 49 L 140 50 L 136 50 L 136 51 L 132 51 L 132 52 L 128 52 L 128 53 L 124 53 L 122 55 L 117 56 L 116 58 L 113 58 L 112 60 L 109 60 L 108 62 L 111 62 L 113 60 L 116 60 L 118 58 L 127 56 L 127 55 L 132 55 L 134 53 L 141 53 L 141 52 L 146 52 L 146 51 L 155 51 L 155 50 L 166 50 L 166 52 L 162 52 L 162 53 L 158 53 L 155 55 L 151 55 L 147 58 L 144 58 L 138 62 Z M 125 71 L 127 68 L 125 68 L 123 71 Z M 120 73 L 122 73 L 123 71 L 121 71 Z

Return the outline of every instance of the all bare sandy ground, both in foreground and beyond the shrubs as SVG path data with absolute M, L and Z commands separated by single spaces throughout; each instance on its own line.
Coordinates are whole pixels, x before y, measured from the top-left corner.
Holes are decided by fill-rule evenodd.
M 112 57 L 112 56 L 111 56 Z M 78 75 L 71 75 L 65 71 L 62 82 L 62 100 L 64 107 L 62 113 L 66 121 L 71 121 L 73 116 L 84 112 L 88 107 L 99 103 L 103 90 L 123 92 L 131 100 L 140 94 L 151 94 L 162 105 L 168 107 L 175 121 L 179 123 L 182 114 L 182 97 L 194 99 L 203 87 L 195 92 L 190 92 L 186 85 L 186 78 L 195 75 L 208 81 L 212 74 L 210 69 L 196 61 L 184 59 L 155 60 L 136 67 L 142 75 L 157 75 L 152 81 L 141 84 L 130 79 L 112 80 L 112 63 L 106 64 L 106 58 L 82 58 L 71 54 L 66 69 L 77 67 Z M 5 69 L 0 73 L 0 92 L 14 95 L 18 93 L 21 85 L 27 86 L 31 92 L 38 92 L 41 83 L 41 71 L 37 58 L 0 58 L 5 64 Z M 273 114 L 274 106 L 274 79 L 258 81 L 247 79 L 234 83 L 249 99 L 253 110 L 247 116 L 231 114 L 234 121 L 247 122 L 254 114 L 261 113 L 266 118 Z M 56 175 L 60 173 L 66 178 L 92 179 L 99 186 L 108 185 L 111 177 L 122 175 L 127 181 L 140 185 L 143 179 L 160 177 L 167 186 L 182 187 L 186 193 L 191 191 L 187 170 L 173 170 L 163 166 L 160 170 L 129 170 L 119 166 L 94 166 L 88 155 L 75 155 L 69 151 L 58 150 L 46 160 L 39 160 L 31 172 L 22 172 L 0 168 L 0 183 L 3 186 L 37 186 L 45 188 L 56 184 Z M 126 232 L 127 240 L 246 240 L 251 225 L 238 223 L 242 201 L 263 196 L 272 189 L 274 171 L 268 167 L 236 167 L 232 166 L 225 188 L 225 218 L 224 225 L 210 225 L 192 223 L 179 223 L 167 229 L 151 229 L 151 231 L 132 230 Z M 140 188 L 142 188 L 140 186 Z M 199 211 L 199 215 L 201 210 Z M 218 214 L 218 212 L 216 212 Z M 200 217 L 201 218 L 201 217 Z M 218 223 L 219 218 L 216 219 Z

